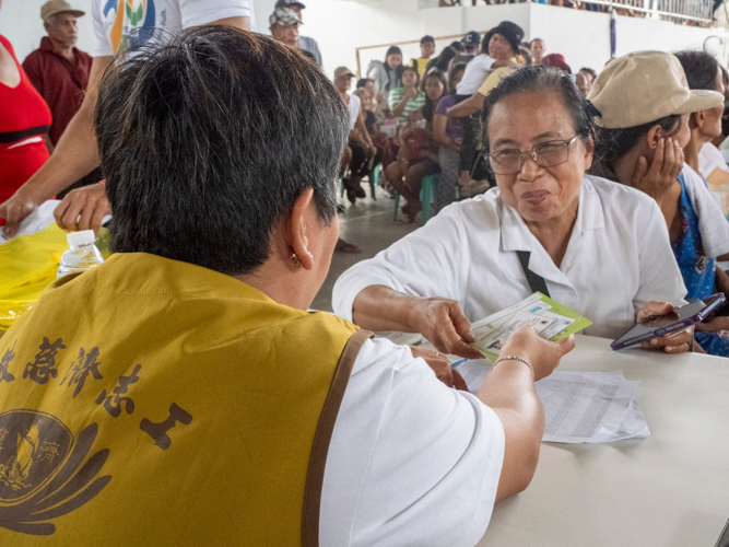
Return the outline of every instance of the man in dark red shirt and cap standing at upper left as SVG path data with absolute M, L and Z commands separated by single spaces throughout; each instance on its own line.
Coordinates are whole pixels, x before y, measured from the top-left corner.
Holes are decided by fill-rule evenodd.
M 50 142 L 47 143 L 51 153 L 66 126 L 81 108 L 89 84 L 92 58 L 74 47 L 79 37 L 77 19 L 83 15 L 85 12 L 73 9 L 66 0 L 44 3 L 40 19 L 48 36 L 44 36 L 40 47 L 23 61 L 28 80 L 52 115 L 48 133 Z M 69 190 L 98 183 L 102 178 L 102 170 L 97 167 L 56 197 L 61 199 Z

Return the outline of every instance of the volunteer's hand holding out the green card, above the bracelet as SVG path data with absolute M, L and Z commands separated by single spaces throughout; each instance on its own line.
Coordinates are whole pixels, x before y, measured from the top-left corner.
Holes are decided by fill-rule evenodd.
M 498 354 L 499 357 L 518 356 L 526 359 L 534 369 L 534 380 L 538 381 L 552 374 L 562 357 L 569 353 L 574 347 L 574 335 L 553 342 L 541 338 L 534 327 L 528 325 L 512 333 Z

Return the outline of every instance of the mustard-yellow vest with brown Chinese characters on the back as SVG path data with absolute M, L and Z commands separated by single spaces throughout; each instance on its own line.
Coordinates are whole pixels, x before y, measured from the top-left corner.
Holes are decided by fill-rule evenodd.
M 59 280 L 0 338 L 0 546 L 317 545 L 368 336 L 154 255 Z

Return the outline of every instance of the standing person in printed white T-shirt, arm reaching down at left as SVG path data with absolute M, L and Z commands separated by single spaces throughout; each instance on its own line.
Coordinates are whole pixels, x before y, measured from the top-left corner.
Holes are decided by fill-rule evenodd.
M 121 0 L 93 0 L 91 15 L 96 45 L 83 104 L 63 131 L 47 164 L 38 168 L 10 199 L 2 198 L 0 201 L 0 219 L 5 220 L 3 231 L 7 237 L 17 233 L 20 221 L 36 207 L 99 165 L 94 109 L 102 74 L 111 65 L 115 55 L 128 48 L 167 40 L 190 26 L 222 24 L 256 31 L 249 0 L 155 0 L 138 2 L 137 11 Z M 70 191 L 54 211 L 58 225 L 72 231 L 98 229 L 109 213 L 109 202 L 102 184 Z

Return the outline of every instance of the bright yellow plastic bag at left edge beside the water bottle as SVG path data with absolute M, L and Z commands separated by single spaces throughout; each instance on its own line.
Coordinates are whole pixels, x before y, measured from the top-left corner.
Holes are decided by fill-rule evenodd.
M 66 232 L 56 224 L 0 245 L 0 336 L 56 280 L 68 246 Z

